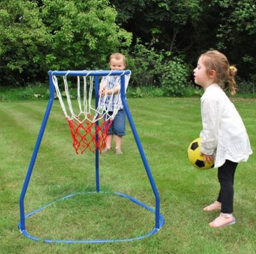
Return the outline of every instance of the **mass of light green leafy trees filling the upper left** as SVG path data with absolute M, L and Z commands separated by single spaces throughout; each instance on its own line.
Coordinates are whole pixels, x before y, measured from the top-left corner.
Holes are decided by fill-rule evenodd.
M 0 83 L 44 82 L 49 70 L 108 68 L 129 47 L 108 0 L 2 0 Z

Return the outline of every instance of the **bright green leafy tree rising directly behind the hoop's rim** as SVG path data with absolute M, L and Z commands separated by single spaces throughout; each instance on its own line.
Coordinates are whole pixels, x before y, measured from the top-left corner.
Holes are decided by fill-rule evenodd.
M 104 68 L 112 52 L 129 47 L 132 34 L 116 25 L 107 0 L 43 0 L 42 16 L 52 34 L 46 61 L 52 69 Z

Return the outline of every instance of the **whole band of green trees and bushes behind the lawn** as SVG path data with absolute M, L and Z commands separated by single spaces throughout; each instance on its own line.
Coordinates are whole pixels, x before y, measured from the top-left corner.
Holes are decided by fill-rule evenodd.
M 0 85 L 46 83 L 49 70 L 107 69 L 120 51 L 131 87 L 178 96 L 198 56 L 218 49 L 236 64 L 241 91 L 254 93 L 255 43 L 252 0 L 2 0 Z

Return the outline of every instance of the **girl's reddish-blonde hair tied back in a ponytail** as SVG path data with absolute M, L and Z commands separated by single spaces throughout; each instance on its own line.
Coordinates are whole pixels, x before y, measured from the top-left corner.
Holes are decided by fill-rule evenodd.
M 200 57 L 202 57 L 207 74 L 211 70 L 216 72 L 214 82 L 218 83 L 223 90 L 229 89 L 230 94 L 236 94 L 236 66 L 230 66 L 227 57 L 218 50 L 209 50 Z

